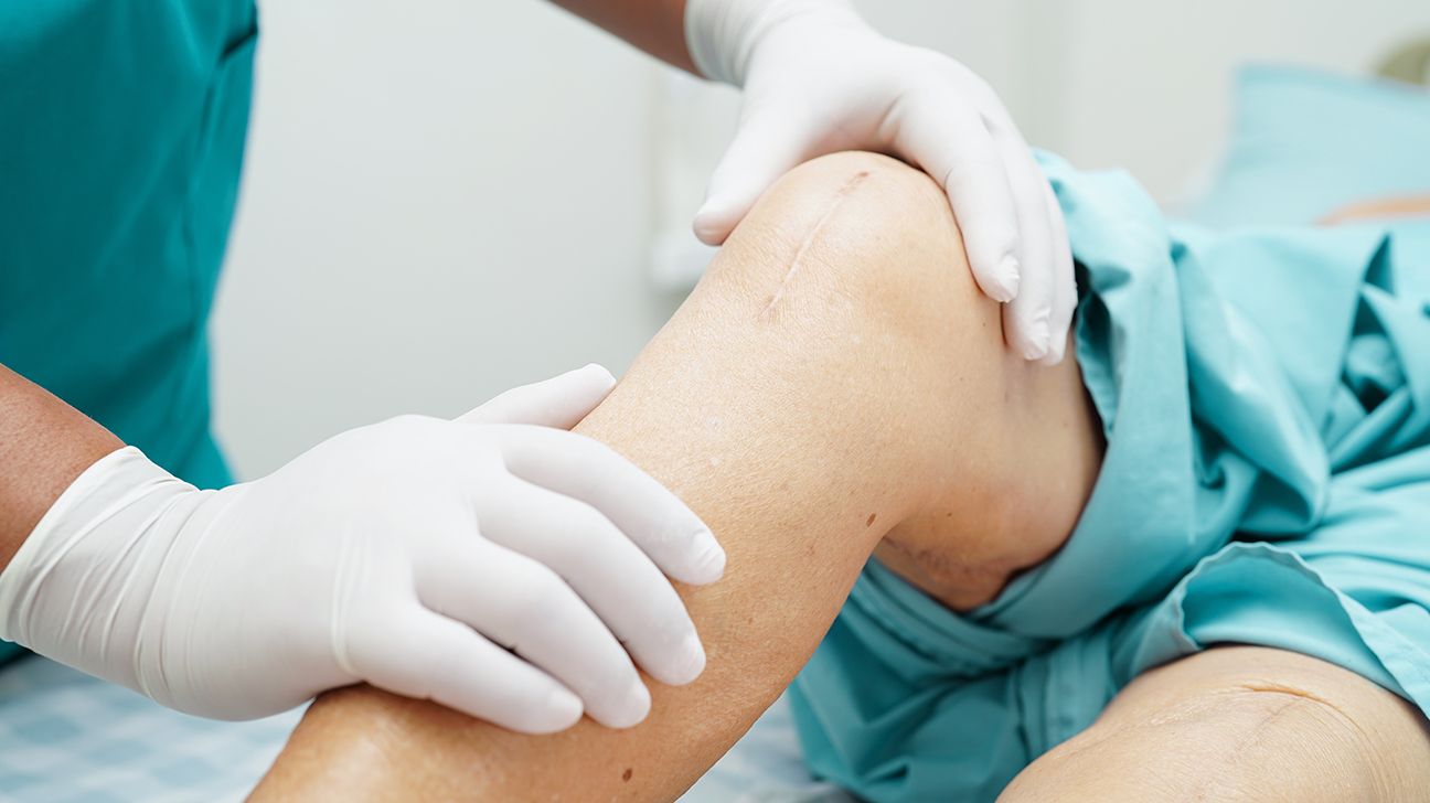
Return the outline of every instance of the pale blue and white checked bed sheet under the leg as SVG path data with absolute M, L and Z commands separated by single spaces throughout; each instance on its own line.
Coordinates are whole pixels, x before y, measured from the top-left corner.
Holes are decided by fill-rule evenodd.
M 0 800 L 242 800 L 302 710 L 214 722 L 40 657 L 0 672 Z M 849 802 L 804 769 L 781 699 L 682 803 Z

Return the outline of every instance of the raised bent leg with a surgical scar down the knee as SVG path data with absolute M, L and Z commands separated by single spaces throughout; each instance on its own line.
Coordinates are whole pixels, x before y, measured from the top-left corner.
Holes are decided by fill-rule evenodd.
M 952 604 L 991 597 L 1067 537 L 1100 454 L 1075 363 L 1027 364 L 998 314 L 927 177 L 869 154 L 795 170 L 579 427 L 721 537 L 725 580 L 684 592 L 705 674 L 652 689 L 639 727 L 551 737 L 340 690 L 257 797 L 669 800 L 789 683 L 885 534 Z

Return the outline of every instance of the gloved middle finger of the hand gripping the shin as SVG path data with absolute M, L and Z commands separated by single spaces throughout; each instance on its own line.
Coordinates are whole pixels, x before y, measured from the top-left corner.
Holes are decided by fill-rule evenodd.
M 480 526 L 485 537 L 561 574 L 656 680 L 679 686 L 705 669 L 695 624 L 671 582 L 595 507 L 515 480 L 483 506 Z

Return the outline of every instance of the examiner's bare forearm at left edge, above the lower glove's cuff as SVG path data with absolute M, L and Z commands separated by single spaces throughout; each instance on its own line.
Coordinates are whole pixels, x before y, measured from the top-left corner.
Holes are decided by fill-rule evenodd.
M 0 366 L 0 570 L 74 477 L 122 446 L 74 407 Z

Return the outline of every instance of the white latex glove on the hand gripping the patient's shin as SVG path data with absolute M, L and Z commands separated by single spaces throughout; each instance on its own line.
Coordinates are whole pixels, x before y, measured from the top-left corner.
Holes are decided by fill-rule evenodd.
M 531 733 L 583 707 L 635 724 L 651 697 L 631 656 L 675 684 L 705 666 L 661 570 L 709 583 L 725 554 L 565 432 L 613 381 L 588 366 L 456 422 L 392 419 L 219 492 L 122 449 L 0 573 L 0 636 L 220 719 L 369 682 Z

